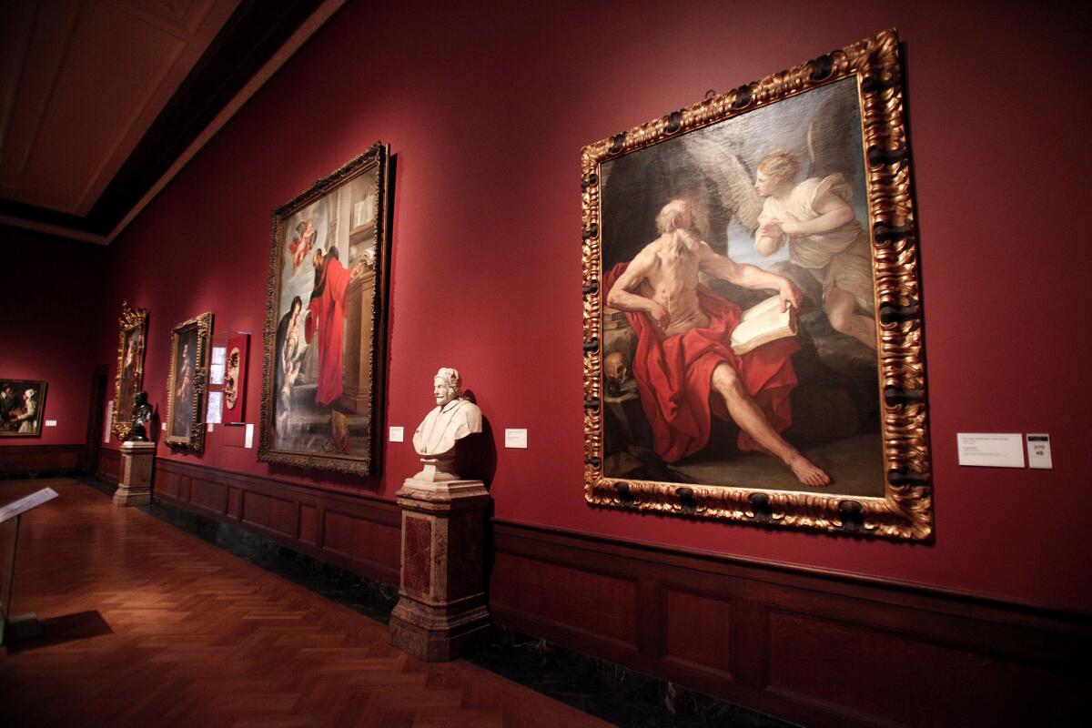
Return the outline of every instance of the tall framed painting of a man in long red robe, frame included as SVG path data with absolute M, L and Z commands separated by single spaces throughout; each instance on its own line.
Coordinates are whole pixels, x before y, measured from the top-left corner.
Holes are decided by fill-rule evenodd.
M 273 212 L 261 461 L 378 473 L 388 156 L 376 142 Z

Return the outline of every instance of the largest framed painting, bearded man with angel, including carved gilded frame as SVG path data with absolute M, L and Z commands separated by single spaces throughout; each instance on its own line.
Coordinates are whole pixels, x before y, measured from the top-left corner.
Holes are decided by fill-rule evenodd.
M 899 41 L 583 150 L 585 496 L 929 539 Z

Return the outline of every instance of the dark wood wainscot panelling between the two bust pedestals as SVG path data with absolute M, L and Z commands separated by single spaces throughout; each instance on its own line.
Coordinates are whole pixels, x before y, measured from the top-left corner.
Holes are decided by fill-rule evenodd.
M 333 492 L 157 457 L 153 498 L 397 585 L 402 514 L 371 494 Z

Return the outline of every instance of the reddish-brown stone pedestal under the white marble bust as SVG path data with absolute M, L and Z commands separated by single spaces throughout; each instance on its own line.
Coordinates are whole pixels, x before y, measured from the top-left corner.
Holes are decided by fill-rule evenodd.
M 402 580 L 391 644 L 428 663 L 454 659 L 489 626 L 489 492 L 480 480 L 415 477 L 395 496 L 402 508 Z

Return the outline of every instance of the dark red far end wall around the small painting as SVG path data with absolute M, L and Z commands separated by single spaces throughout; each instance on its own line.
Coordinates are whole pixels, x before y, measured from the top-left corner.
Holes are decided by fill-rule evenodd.
M 7 291 L 0 309 L 0 378 L 47 383 L 41 437 L 0 438 L 0 447 L 82 444 L 107 252 L 10 227 L 0 227 L 0 251 Z M 57 426 L 45 427 L 45 420 Z

